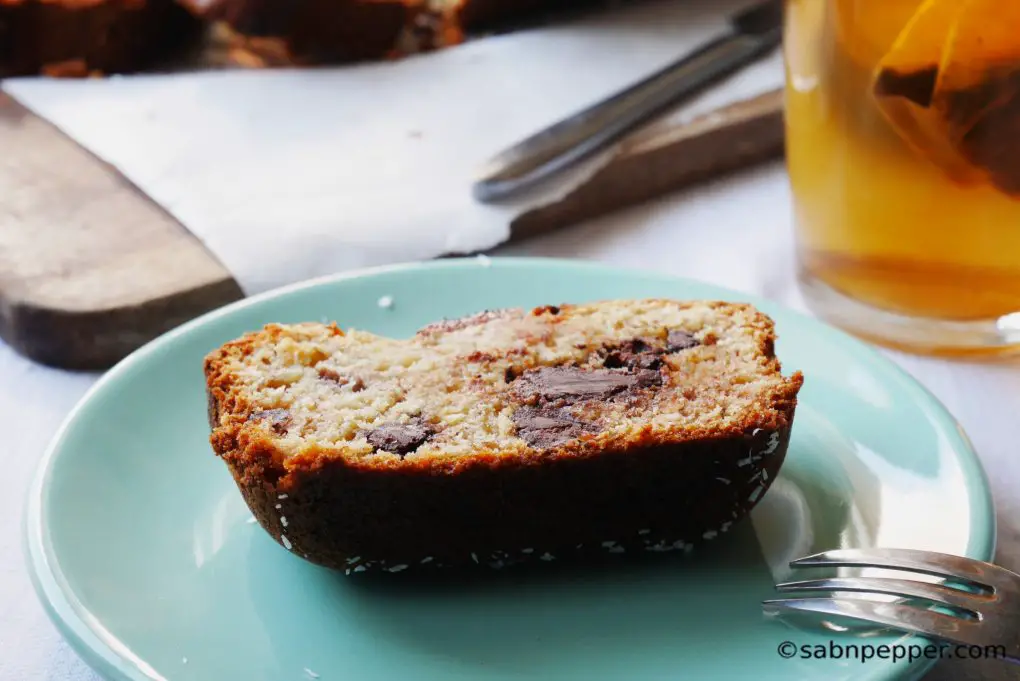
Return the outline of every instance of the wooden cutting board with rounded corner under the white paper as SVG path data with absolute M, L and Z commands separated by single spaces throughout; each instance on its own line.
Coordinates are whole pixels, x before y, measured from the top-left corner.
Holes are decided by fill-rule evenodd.
M 652 124 L 562 201 L 516 217 L 511 239 L 632 206 L 782 150 L 778 91 L 685 125 Z M 2 94 L 0 187 L 0 337 L 33 360 L 105 369 L 243 297 L 186 227 Z

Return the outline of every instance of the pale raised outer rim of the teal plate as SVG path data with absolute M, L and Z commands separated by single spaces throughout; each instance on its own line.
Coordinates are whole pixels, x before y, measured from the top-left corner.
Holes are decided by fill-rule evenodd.
M 946 425 L 952 427 L 961 439 L 962 448 L 954 448 L 954 454 L 961 464 L 965 480 L 972 483 L 968 499 L 971 504 L 971 511 L 974 521 L 971 523 L 968 547 L 965 556 L 976 558 L 977 560 L 992 561 L 994 557 L 998 525 L 994 510 L 994 500 L 992 496 L 987 473 L 975 450 L 973 442 L 967 435 L 963 426 L 959 423 L 953 413 L 941 403 L 941 401 L 931 392 L 927 386 L 921 383 L 904 367 L 882 355 L 876 348 L 869 346 L 863 340 L 831 326 L 821 319 L 811 316 L 785 305 L 779 301 L 765 298 L 758 294 L 748 293 L 738 289 L 732 289 L 702 279 L 686 277 L 678 274 L 671 274 L 658 270 L 642 270 L 632 266 L 618 266 L 601 261 L 571 260 L 567 258 L 543 258 L 543 257 L 516 257 L 497 256 L 486 259 L 474 256 L 444 258 L 430 261 L 408 261 L 402 263 L 380 265 L 374 267 L 358 268 L 345 272 L 317 276 L 284 286 L 277 286 L 265 292 L 254 294 L 241 300 L 228 303 L 219 308 L 215 308 L 199 315 L 183 324 L 164 332 L 163 334 L 146 343 L 139 349 L 132 352 L 107 369 L 79 399 L 70 411 L 65 415 L 60 426 L 54 431 L 49 443 L 46 446 L 42 456 L 37 462 L 35 472 L 31 478 L 31 483 L 26 495 L 22 510 L 22 555 L 26 567 L 36 596 L 43 607 L 44 612 L 54 624 L 61 637 L 70 647 L 83 659 L 83 661 L 100 676 L 111 681 L 169 681 L 155 670 L 152 670 L 145 661 L 139 659 L 124 645 L 119 644 L 118 639 L 112 634 L 105 632 L 102 624 L 92 618 L 87 609 L 74 596 L 66 579 L 56 563 L 52 552 L 49 532 L 45 525 L 45 510 L 43 500 L 53 465 L 58 461 L 60 451 L 67 437 L 67 432 L 71 425 L 78 420 L 79 415 L 97 394 L 106 389 L 106 386 L 115 382 L 132 366 L 144 362 L 150 355 L 160 348 L 168 346 L 177 337 L 191 333 L 216 319 L 220 319 L 234 314 L 237 311 L 256 307 L 265 301 L 286 297 L 299 292 L 317 289 L 350 279 L 360 279 L 364 277 L 380 276 L 392 273 L 429 270 L 450 270 L 450 269 L 488 269 L 490 267 L 526 270 L 541 267 L 552 270 L 588 270 L 589 272 L 604 272 L 611 276 L 623 276 L 628 278 L 639 278 L 644 280 L 657 280 L 664 283 L 695 284 L 708 286 L 718 292 L 720 297 L 731 300 L 745 300 L 756 307 L 774 307 L 782 311 L 784 316 L 798 319 L 801 323 L 827 334 L 837 343 L 842 343 L 856 354 L 867 357 L 871 362 L 882 368 L 884 372 L 897 375 L 906 384 L 917 389 L 920 396 L 926 399 L 934 413 L 938 415 Z M 976 493 L 971 493 L 971 491 Z M 976 508 L 975 508 L 976 507 Z M 983 522 L 982 522 L 983 521 Z M 917 664 L 908 665 L 903 668 L 887 667 L 877 676 L 869 676 L 876 681 L 900 680 L 904 678 L 919 678 L 937 661 L 917 661 Z

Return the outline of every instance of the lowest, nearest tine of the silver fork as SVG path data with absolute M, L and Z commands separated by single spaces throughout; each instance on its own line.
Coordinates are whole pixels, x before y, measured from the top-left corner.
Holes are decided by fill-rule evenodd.
M 982 642 L 975 635 L 978 632 L 972 620 L 903 604 L 879 603 L 864 598 L 779 598 L 765 600 L 762 606 L 766 613 L 815 613 L 880 624 L 891 629 L 954 642 L 966 644 Z

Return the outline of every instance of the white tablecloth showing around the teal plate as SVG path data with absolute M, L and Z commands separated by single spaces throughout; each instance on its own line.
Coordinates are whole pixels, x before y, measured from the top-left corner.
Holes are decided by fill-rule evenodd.
M 576 257 L 672 272 L 803 307 L 792 267 L 780 164 L 524 244 L 497 255 Z M 961 421 L 996 496 L 998 562 L 1020 570 L 1020 362 L 963 363 L 887 353 Z M 51 434 L 96 379 L 35 365 L 0 344 L 0 681 L 97 681 L 36 599 L 21 553 L 24 489 Z M 1018 631 L 1020 635 L 1020 631 Z M 940 663 L 926 681 L 1020 678 L 994 661 Z M 171 679 L 170 681 L 175 681 Z M 225 679 L 224 681 L 244 681 Z

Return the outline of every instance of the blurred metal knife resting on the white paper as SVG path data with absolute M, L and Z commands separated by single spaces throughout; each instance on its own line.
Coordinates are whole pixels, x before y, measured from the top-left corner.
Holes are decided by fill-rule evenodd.
M 493 202 L 528 189 L 773 51 L 782 40 L 782 3 L 766 0 L 730 25 L 727 35 L 498 154 L 479 173 L 474 198 Z

